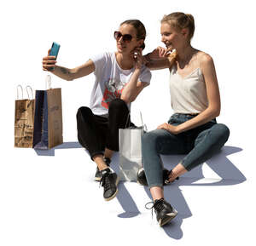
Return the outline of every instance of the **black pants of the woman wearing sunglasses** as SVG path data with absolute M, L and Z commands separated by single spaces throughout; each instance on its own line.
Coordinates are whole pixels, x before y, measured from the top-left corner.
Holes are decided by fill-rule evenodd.
M 89 107 L 82 106 L 77 112 L 78 139 L 91 159 L 104 153 L 105 148 L 119 151 L 119 129 L 134 126 L 124 100 L 112 100 L 108 108 L 108 117 L 93 114 Z

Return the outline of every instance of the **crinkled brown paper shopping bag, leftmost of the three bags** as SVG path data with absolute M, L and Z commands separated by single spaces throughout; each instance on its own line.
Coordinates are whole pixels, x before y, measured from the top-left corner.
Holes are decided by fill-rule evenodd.
M 19 100 L 19 88 L 22 92 L 22 99 Z M 32 88 L 26 86 L 27 89 Z M 33 95 L 32 95 L 33 98 Z M 32 148 L 33 125 L 34 125 L 34 100 L 23 99 L 23 89 L 17 86 L 17 100 L 15 100 L 15 147 Z

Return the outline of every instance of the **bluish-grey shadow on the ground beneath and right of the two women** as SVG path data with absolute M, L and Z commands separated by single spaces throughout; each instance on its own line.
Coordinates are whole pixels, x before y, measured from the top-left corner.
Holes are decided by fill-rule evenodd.
M 172 206 L 177 209 L 177 217 L 171 223 L 163 226 L 166 234 L 174 239 L 181 239 L 183 231 L 181 229 L 183 220 L 192 216 L 189 205 L 183 197 L 179 186 L 231 186 L 240 184 L 246 180 L 246 177 L 241 173 L 236 166 L 230 162 L 228 156 L 236 152 L 241 152 L 241 148 L 234 146 L 224 146 L 222 151 L 209 159 L 206 163 L 213 172 L 218 174 L 219 179 L 212 179 L 211 177 L 204 177 L 202 172 L 202 165 L 192 169 L 179 180 L 175 180 L 172 185 L 165 186 L 165 197 L 167 201 L 172 201 Z M 166 169 L 173 169 L 173 167 L 180 162 L 183 155 L 162 156 L 163 163 Z M 204 164 L 205 165 L 205 164 Z M 114 156 L 111 163 L 111 168 L 118 173 L 118 157 Z M 206 180 L 203 183 L 204 179 Z M 200 180 L 200 182 L 198 182 Z M 148 187 L 144 187 L 149 199 L 151 200 Z M 121 218 L 131 218 L 140 214 L 136 203 L 133 201 L 131 195 L 126 190 L 124 183 L 119 184 L 119 195 L 117 196 L 120 205 L 124 209 L 124 213 L 118 215 Z M 147 203 L 148 201 L 145 201 Z

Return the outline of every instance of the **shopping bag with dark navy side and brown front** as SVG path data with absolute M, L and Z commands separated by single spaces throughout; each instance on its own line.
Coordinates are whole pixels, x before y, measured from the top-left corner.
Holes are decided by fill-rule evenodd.
M 61 89 L 36 90 L 33 148 L 50 149 L 63 143 Z

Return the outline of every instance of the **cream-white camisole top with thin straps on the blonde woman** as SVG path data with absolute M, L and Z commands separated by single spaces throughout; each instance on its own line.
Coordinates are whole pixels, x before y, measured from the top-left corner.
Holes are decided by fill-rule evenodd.
M 170 93 L 172 109 L 176 113 L 197 114 L 207 109 L 207 89 L 200 67 L 181 77 L 177 66 L 172 66 Z

